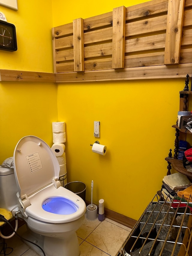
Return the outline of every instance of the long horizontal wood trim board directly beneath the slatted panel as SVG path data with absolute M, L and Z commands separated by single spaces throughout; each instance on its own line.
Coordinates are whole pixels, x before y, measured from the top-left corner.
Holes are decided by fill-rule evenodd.
M 191 70 L 192 63 L 185 63 L 179 65 L 124 68 L 117 70 L 109 69 L 78 73 L 57 73 L 56 83 L 184 78 L 186 74 L 191 74 Z

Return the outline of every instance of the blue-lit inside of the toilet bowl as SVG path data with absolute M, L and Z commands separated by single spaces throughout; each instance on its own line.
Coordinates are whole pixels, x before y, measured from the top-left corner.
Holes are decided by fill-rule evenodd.
M 47 198 L 42 205 L 42 208 L 46 212 L 56 213 L 56 214 L 72 214 L 78 210 L 78 206 L 64 197 L 52 197 Z

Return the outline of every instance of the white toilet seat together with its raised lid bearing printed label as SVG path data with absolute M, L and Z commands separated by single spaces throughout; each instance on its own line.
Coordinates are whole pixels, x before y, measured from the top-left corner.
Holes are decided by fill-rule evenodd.
M 43 140 L 36 136 L 23 137 L 15 147 L 13 159 L 17 198 L 23 216 L 47 223 L 66 223 L 84 215 L 85 202 L 77 194 L 61 187 L 57 158 Z M 43 209 L 45 201 L 55 197 L 63 198 L 72 205 L 73 213 Z

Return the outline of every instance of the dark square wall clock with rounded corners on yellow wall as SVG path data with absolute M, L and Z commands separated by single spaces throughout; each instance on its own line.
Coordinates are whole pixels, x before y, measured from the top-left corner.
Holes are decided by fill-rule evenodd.
M 0 21 L 0 50 L 16 51 L 16 29 L 11 23 Z

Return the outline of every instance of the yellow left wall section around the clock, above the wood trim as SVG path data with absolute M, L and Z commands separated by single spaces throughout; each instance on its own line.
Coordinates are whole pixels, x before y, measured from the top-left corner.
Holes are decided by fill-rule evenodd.
M 0 5 L 7 22 L 16 26 L 16 52 L 1 50 L 0 68 L 52 72 L 51 0 L 17 1 L 18 11 Z

